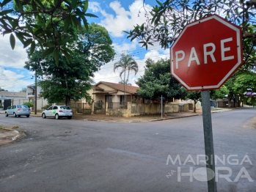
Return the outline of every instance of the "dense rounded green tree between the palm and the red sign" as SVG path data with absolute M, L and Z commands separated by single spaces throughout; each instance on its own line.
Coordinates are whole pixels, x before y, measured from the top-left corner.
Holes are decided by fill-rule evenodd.
M 185 89 L 172 77 L 170 72 L 169 59 L 161 59 L 153 62 L 147 59 L 145 74 L 136 81 L 139 86 L 137 93 L 145 99 L 158 100 L 161 95 L 166 99 L 184 99 Z

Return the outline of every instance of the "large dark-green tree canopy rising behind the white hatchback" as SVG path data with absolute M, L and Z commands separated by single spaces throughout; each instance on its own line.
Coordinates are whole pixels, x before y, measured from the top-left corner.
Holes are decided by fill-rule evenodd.
M 29 54 L 26 62 L 26 69 L 37 70 L 41 95 L 49 103 L 69 105 L 70 100 L 89 99 L 87 91 L 91 88 L 93 73 L 114 58 L 112 41 L 103 26 L 92 23 L 88 30 L 75 30 L 73 37 L 67 42 L 72 48 L 72 62 L 68 63 L 61 55 L 56 67 L 52 53 L 42 58 L 40 49 Z

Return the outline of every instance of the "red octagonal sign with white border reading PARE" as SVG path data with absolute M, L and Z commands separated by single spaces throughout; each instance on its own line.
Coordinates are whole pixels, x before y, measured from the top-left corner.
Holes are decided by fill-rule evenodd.
M 171 73 L 186 89 L 219 89 L 242 64 L 241 29 L 218 15 L 189 23 L 170 56 Z

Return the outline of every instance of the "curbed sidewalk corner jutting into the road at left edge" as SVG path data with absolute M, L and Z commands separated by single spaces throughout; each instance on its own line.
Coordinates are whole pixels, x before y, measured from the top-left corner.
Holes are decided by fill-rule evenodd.
M 18 141 L 25 137 L 25 133 L 17 130 L 18 126 L 7 128 L 7 126 L 0 125 L 0 146 L 4 144 L 10 144 L 14 141 Z

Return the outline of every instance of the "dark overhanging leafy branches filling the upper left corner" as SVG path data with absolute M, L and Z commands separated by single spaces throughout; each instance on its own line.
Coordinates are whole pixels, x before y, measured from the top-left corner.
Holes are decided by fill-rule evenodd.
M 81 29 L 84 24 L 88 29 L 87 17 L 97 17 L 87 13 L 88 0 L 3 0 L 0 1 L 0 29 L 3 35 L 10 34 L 10 45 L 15 48 L 15 37 L 30 46 L 34 52 L 36 42 L 44 52 L 54 56 L 56 64 L 64 54 L 70 61 L 70 49 L 66 43 L 68 29 Z M 12 6 L 14 5 L 14 6 Z M 57 30 L 63 25 L 63 30 Z

